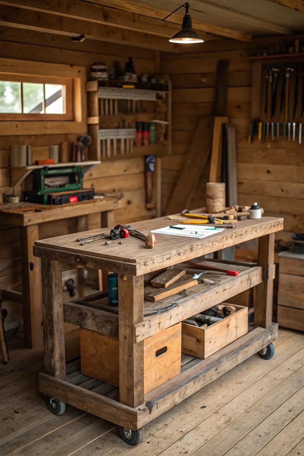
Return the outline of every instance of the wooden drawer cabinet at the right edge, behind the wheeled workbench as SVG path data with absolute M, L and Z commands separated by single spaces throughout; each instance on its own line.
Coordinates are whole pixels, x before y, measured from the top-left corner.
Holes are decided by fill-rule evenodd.
M 304 331 L 304 255 L 279 254 L 278 324 Z

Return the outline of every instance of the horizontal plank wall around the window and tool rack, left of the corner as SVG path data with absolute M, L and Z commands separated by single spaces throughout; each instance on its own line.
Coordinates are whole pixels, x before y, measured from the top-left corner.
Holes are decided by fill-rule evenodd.
M 124 67 L 128 57 L 133 57 L 138 74 L 159 72 L 159 53 L 128 45 L 102 43 L 87 40 L 83 43 L 72 42 L 70 37 L 44 34 L 36 31 L 23 31 L 1 26 L 0 30 L 1 57 L 36 60 L 40 62 L 80 65 L 88 68 L 93 62 L 105 62 L 113 65 L 119 61 Z M 43 135 L 10 135 L 0 137 L 0 201 L 3 193 L 10 193 L 9 165 L 10 144 L 31 144 L 33 160 L 48 157 L 48 146 L 62 141 L 72 142 L 79 134 L 51 135 L 45 131 Z M 145 208 L 144 195 L 144 159 L 130 158 L 127 160 L 108 161 L 90 171 L 83 182 L 84 187 L 94 187 L 98 192 L 124 193 L 130 201 L 127 208 L 115 213 L 114 222 L 127 223 L 130 220 L 139 221 L 150 218 L 150 212 Z M 56 223 L 41 224 L 41 238 L 59 236 L 72 232 L 75 227 L 74 219 L 62 220 Z M 98 228 L 96 218 L 90 216 L 90 227 Z M 20 239 L 18 228 L 5 227 L 1 229 L 1 258 L 0 286 L 18 290 L 20 278 Z M 18 304 L 5 302 L 9 310 L 9 318 L 5 321 L 7 329 L 21 323 L 21 309 Z

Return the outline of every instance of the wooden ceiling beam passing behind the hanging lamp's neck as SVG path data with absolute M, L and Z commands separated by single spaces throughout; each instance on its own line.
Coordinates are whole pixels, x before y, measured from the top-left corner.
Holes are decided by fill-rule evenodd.
M 170 11 L 160 10 L 148 5 L 142 5 L 129 0 L 84 0 L 88 3 L 95 3 L 97 5 L 107 5 L 117 8 L 119 10 L 129 11 L 132 13 L 140 14 L 143 16 L 154 17 L 155 19 L 163 20 L 164 17 L 170 14 Z M 173 22 L 181 25 L 182 16 L 180 14 L 172 14 L 165 22 Z M 197 31 L 203 31 L 206 33 L 212 33 L 213 35 L 226 36 L 239 41 L 250 42 L 252 36 L 242 31 L 231 30 L 223 27 L 214 26 L 211 24 L 205 24 L 200 21 L 195 21 L 192 18 L 192 26 Z

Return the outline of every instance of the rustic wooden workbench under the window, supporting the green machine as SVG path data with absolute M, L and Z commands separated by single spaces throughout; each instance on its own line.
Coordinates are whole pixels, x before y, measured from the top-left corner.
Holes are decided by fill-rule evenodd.
M 21 232 L 21 281 L 22 292 L 1 290 L 2 298 L 19 302 L 23 306 L 23 325 L 25 346 L 34 348 L 42 344 L 42 308 L 41 308 L 41 272 L 40 260 L 33 256 L 34 241 L 40 238 L 39 225 L 65 218 L 77 218 L 75 231 L 89 228 L 88 216 L 101 213 L 100 226 L 113 224 L 113 211 L 125 207 L 126 201 L 116 197 L 48 206 L 20 202 L 17 204 L 2 203 L 0 221 L 7 225 L 20 227 Z M 71 266 L 70 269 L 72 269 Z

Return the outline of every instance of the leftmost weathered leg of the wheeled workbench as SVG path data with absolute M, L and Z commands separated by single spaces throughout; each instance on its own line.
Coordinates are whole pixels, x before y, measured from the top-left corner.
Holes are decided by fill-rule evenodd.
M 41 259 L 44 366 L 53 377 L 66 378 L 62 263 Z

